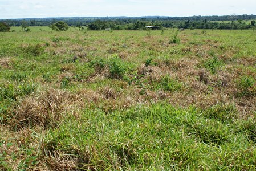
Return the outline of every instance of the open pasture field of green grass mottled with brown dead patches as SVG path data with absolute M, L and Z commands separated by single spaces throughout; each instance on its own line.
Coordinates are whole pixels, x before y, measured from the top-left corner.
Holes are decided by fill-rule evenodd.
M 256 170 L 256 31 L 0 33 L 0 170 Z

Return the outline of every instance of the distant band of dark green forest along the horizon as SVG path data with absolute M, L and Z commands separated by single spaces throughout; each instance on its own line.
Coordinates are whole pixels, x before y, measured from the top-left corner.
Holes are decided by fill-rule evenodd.
M 68 26 L 88 30 L 145 30 L 145 26 L 185 29 L 250 29 L 255 28 L 256 15 L 192 16 L 192 17 L 61 17 L 0 19 L 9 26 L 50 26 L 56 21 L 64 21 Z M 249 21 L 249 22 L 248 22 Z

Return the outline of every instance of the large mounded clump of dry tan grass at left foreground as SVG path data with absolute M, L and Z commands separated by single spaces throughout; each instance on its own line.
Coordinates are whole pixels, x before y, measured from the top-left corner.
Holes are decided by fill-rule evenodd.
M 14 110 L 13 126 L 40 125 L 44 128 L 58 125 L 66 115 L 78 117 L 76 97 L 65 91 L 50 89 L 39 95 L 26 97 Z

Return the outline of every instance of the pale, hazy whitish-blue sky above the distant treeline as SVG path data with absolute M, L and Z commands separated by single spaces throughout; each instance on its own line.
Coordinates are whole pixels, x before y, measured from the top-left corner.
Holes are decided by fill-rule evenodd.
M 0 0 L 0 18 L 256 14 L 255 0 Z

